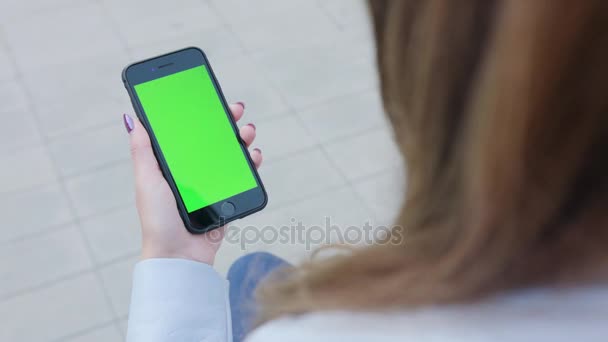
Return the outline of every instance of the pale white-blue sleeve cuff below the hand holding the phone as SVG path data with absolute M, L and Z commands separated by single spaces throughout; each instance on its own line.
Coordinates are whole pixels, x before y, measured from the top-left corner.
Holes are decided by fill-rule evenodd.
M 127 342 L 177 341 L 232 341 L 228 281 L 195 261 L 140 261 L 133 272 Z

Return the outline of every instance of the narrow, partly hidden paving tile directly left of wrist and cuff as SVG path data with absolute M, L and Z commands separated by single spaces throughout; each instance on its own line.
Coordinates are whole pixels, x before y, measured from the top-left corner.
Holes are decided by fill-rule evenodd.
M 119 317 L 129 313 L 133 268 L 138 261 L 139 257 L 129 258 L 106 266 L 100 271 L 104 287 L 110 296 L 114 312 L 116 312 Z

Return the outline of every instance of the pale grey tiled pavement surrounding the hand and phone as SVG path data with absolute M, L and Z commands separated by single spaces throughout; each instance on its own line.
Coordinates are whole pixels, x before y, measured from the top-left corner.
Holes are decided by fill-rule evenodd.
M 258 128 L 270 203 L 240 223 L 392 219 L 402 171 L 361 1 L 2 0 L 0 341 L 124 337 L 139 227 L 120 71 L 189 45 Z M 218 269 L 242 253 L 225 244 Z

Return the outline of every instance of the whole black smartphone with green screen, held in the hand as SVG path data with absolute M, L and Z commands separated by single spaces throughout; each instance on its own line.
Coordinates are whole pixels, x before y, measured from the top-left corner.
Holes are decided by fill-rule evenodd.
M 122 80 L 186 229 L 205 233 L 266 206 L 264 185 L 201 49 L 133 63 Z

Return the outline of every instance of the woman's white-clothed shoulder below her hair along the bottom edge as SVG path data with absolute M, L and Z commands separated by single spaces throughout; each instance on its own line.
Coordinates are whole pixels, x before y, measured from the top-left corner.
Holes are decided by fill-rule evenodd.
M 529 290 L 468 305 L 282 318 L 248 341 L 605 341 L 606 322 L 608 288 Z

